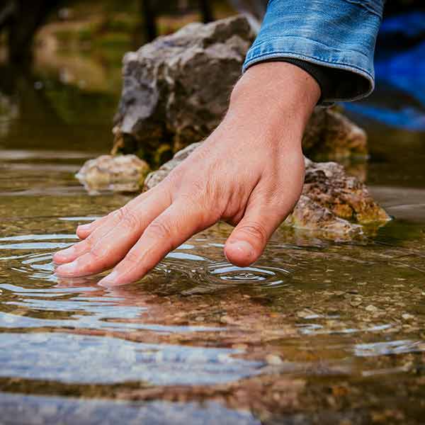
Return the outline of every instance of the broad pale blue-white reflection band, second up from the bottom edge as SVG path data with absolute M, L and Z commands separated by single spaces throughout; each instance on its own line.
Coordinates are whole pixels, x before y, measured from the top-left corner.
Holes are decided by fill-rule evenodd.
M 261 366 L 233 358 L 237 350 L 143 344 L 57 332 L 2 333 L 0 347 L 0 376 L 64 383 L 212 385 L 255 375 Z

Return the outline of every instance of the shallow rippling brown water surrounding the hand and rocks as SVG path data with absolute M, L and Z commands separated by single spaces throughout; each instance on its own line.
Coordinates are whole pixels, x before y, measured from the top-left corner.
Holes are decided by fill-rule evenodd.
M 279 229 L 237 268 L 220 224 L 106 290 L 52 254 L 130 199 L 74 179 L 108 152 L 120 88 L 1 74 L 0 424 L 423 423 L 424 133 L 362 123 L 357 171 L 395 216 L 373 240 Z

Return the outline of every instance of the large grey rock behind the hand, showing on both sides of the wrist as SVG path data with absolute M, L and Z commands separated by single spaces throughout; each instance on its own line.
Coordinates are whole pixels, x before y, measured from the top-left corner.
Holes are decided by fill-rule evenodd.
M 179 149 L 208 137 L 227 111 L 253 40 L 248 21 L 237 16 L 191 23 L 127 53 L 113 153 L 136 153 L 162 164 Z M 365 132 L 328 108 L 315 109 L 303 147 L 309 157 L 367 154 Z

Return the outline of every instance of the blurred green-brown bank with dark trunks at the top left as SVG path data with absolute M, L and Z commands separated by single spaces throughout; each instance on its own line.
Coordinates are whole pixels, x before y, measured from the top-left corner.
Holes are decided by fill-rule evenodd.
M 0 44 L 7 44 L 14 62 L 30 57 L 27 52 L 34 39 L 38 47 L 44 47 L 46 39 L 55 38 L 60 50 L 111 47 L 125 51 L 140 47 L 157 33 L 171 33 L 188 22 L 200 21 L 205 4 L 206 9 L 211 6 L 217 11 L 218 18 L 233 13 L 224 0 L 151 0 L 152 13 L 147 19 L 146 4 L 145 0 L 0 0 Z

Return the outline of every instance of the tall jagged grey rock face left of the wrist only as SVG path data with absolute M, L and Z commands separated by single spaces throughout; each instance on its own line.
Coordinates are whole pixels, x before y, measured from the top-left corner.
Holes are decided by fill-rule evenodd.
M 150 153 L 173 140 L 176 151 L 209 135 L 253 40 L 246 18 L 236 17 L 191 23 L 127 53 L 115 147 Z

